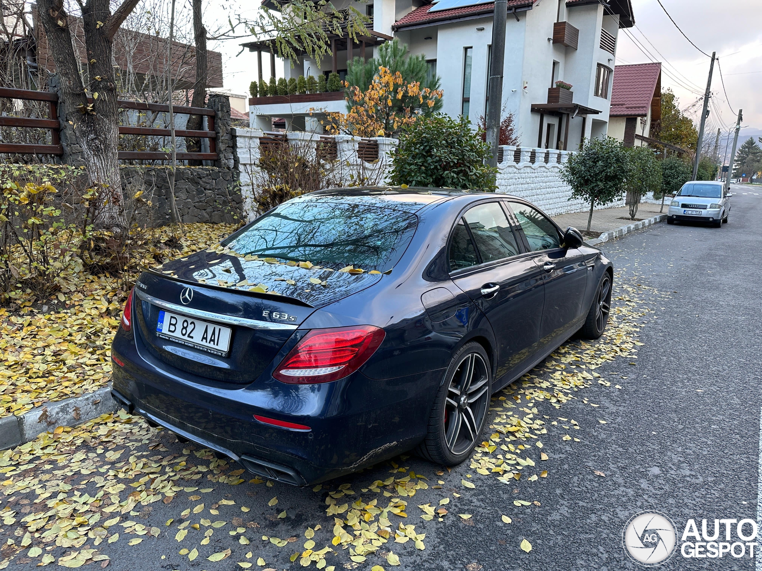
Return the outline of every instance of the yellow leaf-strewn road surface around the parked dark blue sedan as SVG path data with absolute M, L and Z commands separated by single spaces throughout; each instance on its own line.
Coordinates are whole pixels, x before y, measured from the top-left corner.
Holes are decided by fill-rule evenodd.
M 522 511 L 539 505 L 535 482 L 561 469 L 553 443 L 580 441 L 578 419 L 563 413 L 564 404 L 581 400 L 607 422 L 591 398 L 597 391 L 588 389 L 626 388 L 622 371 L 636 363 L 639 322 L 657 317 L 663 298 L 617 277 L 604 337 L 566 343 L 495 395 L 485 441 L 453 471 L 418 462 L 417 473 L 403 455 L 296 490 L 248 480 L 238 465 L 123 411 L 58 427 L 0 455 L 0 569 L 111 560 L 166 569 L 409 568 L 431 557 L 427 534 L 439 533 L 437 526 L 473 525 L 467 506 L 484 478 L 511 486 L 514 498 L 495 506 L 493 525 L 518 528 Z M 610 362 L 620 372 L 596 371 Z M 531 553 L 532 538 L 517 536 L 517 549 Z

